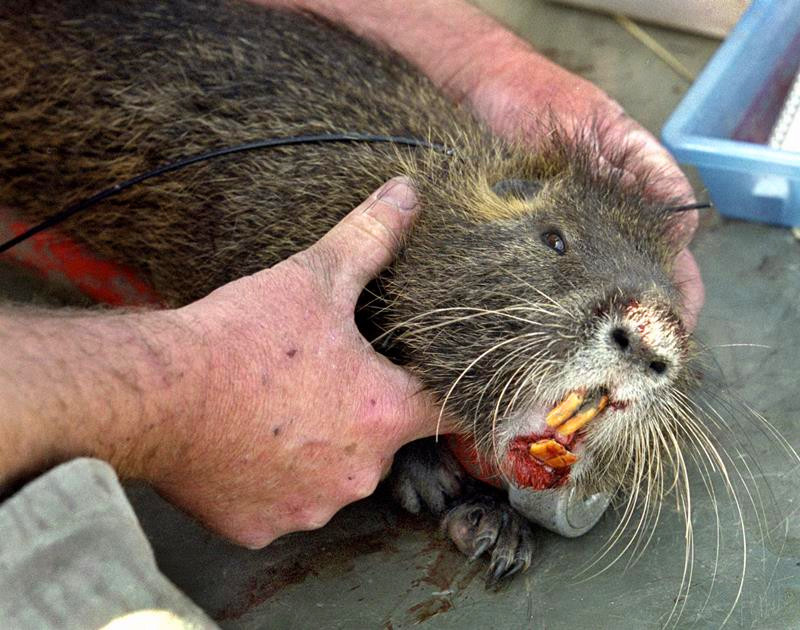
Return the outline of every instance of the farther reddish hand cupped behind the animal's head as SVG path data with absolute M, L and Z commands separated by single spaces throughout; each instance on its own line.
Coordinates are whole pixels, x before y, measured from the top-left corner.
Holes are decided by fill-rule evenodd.
M 600 88 L 526 45 L 507 44 L 501 50 L 504 54 L 475 57 L 475 64 L 485 66 L 473 70 L 475 79 L 465 81 L 471 73 L 456 75 L 468 86 L 464 98 L 497 133 L 521 137 L 535 146 L 542 142 L 539 121 L 554 119 L 567 136 L 580 136 L 595 125 L 608 168 L 621 169 L 624 177 L 650 179 L 647 192 L 654 199 L 672 204 L 694 201 L 691 185 L 672 156 Z M 697 222 L 696 210 L 681 212 L 672 228 L 680 247 L 673 278 L 683 292 L 683 319 L 690 330 L 705 299 L 700 271 L 688 250 Z

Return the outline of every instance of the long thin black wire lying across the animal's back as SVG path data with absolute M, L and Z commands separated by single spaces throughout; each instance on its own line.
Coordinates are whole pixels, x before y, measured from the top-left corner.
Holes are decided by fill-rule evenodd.
M 442 153 L 448 157 L 455 154 L 453 149 L 446 147 L 443 144 L 428 142 L 426 140 L 421 140 L 419 138 L 410 138 L 406 136 L 374 135 L 374 134 L 365 134 L 358 132 L 322 133 L 322 134 L 308 134 L 301 136 L 289 136 L 287 138 L 268 138 L 266 140 L 256 140 L 254 142 L 246 142 L 244 144 L 237 144 L 234 146 L 223 147 L 221 149 L 215 149 L 213 151 L 208 151 L 206 153 L 198 153 L 196 155 L 190 155 L 189 157 L 182 158 L 175 162 L 164 164 L 151 171 L 147 171 L 146 173 L 141 173 L 139 175 L 136 175 L 135 177 L 131 177 L 130 179 L 125 180 L 124 182 L 114 184 L 110 188 L 101 190 L 100 192 L 92 195 L 91 197 L 87 197 L 85 199 L 82 199 L 81 201 L 69 205 L 63 210 L 46 218 L 41 223 L 34 225 L 32 228 L 26 230 L 22 234 L 15 236 L 14 238 L 11 238 L 6 242 L 0 244 L 0 254 L 8 251 L 15 245 L 19 245 L 23 241 L 28 240 L 29 238 L 38 234 L 39 232 L 51 228 L 54 225 L 57 225 L 62 221 L 65 221 L 71 216 L 78 214 L 79 212 L 82 212 L 83 210 L 86 210 L 87 208 L 90 208 L 91 206 L 98 204 L 101 201 L 105 201 L 109 197 L 118 195 L 124 190 L 127 190 L 128 188 L 131 188 L 136 184 L 139 184 L 145 180 L 152 179 L 154 177 L 159 177 L 160 175 L 171 173 L 173 171 L 177 171 L 182 168 L 186 168 L 187 166 L 191 166 L 192 164 L 197 164 L 198 162 L 205 162 L 206 160 L 212 160 L 214 158 L 223 157 L 226 155 L 232 155 L 234 153 L 244 153 L 246 151 L 256 151 L 258 149 L 287 146 L 292 144 L 313 144 L 321 142 L 375 142 L 375 143 L 401 144 L 409 147 L 421 147 L 424 149 L 432 149 L 433 151 L 438 151 L 439 153 Z

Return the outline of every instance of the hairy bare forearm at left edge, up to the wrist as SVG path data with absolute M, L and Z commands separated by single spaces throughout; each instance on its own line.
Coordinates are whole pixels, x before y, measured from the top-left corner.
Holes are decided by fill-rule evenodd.
M 144 476 L 176 410 L 202 405 L 192 337 L 169 311 L 0 308 L 0 487 L 80 455 Z

